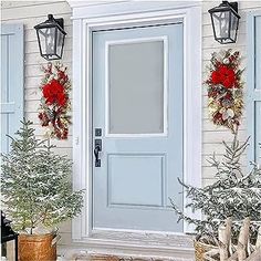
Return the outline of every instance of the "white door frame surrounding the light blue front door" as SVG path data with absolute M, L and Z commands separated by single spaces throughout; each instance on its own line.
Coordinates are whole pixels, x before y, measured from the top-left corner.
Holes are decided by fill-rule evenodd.
M 188 1 L 90 4 L 88 1 L 70 0 L 69 3 L 73 8 L 73 184 L 75 189 L 86 190 L 82 215 L 73 220 L 73 240 L 104 251 L 117 249 L 116 246 L 121 250 L 138 250 L 138 253 L 144 250 L 149 254 L 161 251 L 166 255 L 173 249 L 180 252 L 182 248 L 188 251 L 191 242 L 180 233 L 92 229 L 91 50 L 93 30 L 184 20 L 184 178 L 187 184 L 201 186 L 201 6 Z M 191 215 L 187 209 L 184 211 Z M 189 231 L 186 223 L 184 231 Z M 166 237 L 174 237 L 176 247 L 169 247 Z M 152 240 L 157 241 L 157 247 L 153 247 Z

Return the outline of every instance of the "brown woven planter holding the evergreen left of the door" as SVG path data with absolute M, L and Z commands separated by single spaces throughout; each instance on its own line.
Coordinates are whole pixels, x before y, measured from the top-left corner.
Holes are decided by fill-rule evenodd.
M 55 261 L 56 243 L 52 244 L 55 236 L 48 234 L 19 234 L 19 261 Z

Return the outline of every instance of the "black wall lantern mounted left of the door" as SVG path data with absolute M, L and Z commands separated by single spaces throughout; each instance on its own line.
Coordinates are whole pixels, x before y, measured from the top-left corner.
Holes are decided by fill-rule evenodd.
M 34 27 L 41 56 L 51 61 L 62 59 L 64 38 L 63 19 L 54 19 L 48 14 L 48 20 Z

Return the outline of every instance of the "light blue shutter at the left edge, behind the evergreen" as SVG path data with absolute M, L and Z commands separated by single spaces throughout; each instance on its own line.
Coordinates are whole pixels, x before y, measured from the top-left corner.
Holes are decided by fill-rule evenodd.
M 23 118 L 23 25 L 1 24 L 1 153 Z

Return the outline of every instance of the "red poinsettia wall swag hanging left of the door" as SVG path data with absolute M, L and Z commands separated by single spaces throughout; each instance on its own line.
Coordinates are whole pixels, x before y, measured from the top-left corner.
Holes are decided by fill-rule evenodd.
M 69 92 L 71 82 L 66 74 L 66 67 L 61 63 L 48 63 L 42 66 L 44 76 L 40 90 L 42 98 L 39 119 L 43 127 L 49 127 L 49 136 L 58 139 L 66 139 L 69 125 L 71 124 L 71 103 Z

